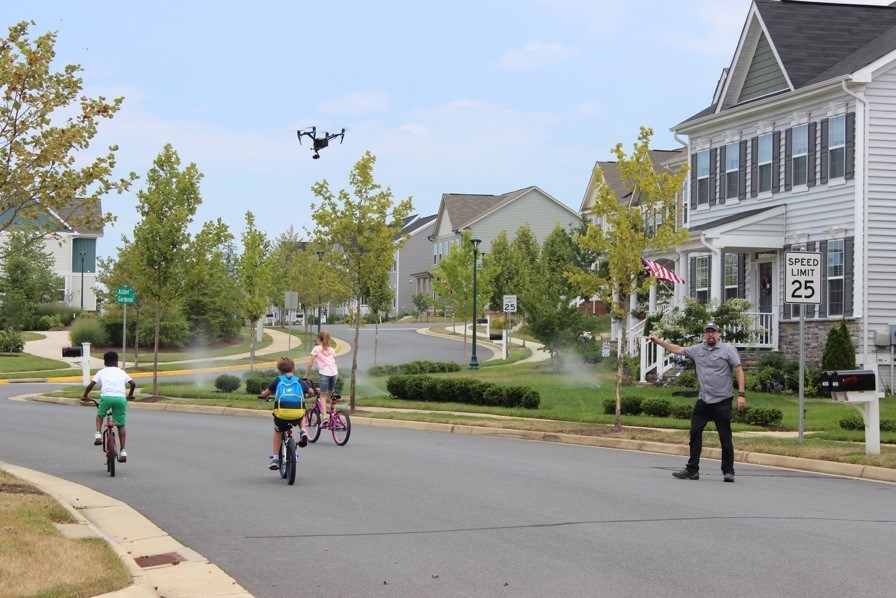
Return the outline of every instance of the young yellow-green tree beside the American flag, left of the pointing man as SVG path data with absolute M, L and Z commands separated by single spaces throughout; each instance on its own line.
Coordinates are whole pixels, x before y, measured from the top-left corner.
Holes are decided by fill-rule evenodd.
M 644 265 L 641 259 L 649 251 L 665 250 L 687 240 L 686 230 L 676 230 L 676 195 L 687 177 L 687 166 L 677 172 L 657 172 L 650 159 L 649 147 L 653 130 L 641 127 L 638 141 L 631 155 L 617 144 L 613 150 L 617 158 L 619 175 L 630 199 L 617 197 L 606 184 L 600 167 L 595 168 L 598 180 L 597 197 L 592 213 L 604 226 L 589 226 L 585 235 L 576 237 L 585 249 L 599 253 L 607 263 L 606 270 L 577 271 L 570 280 L 585 297 L 599 296 L 610 306 L 610 313 L 618 321 L 624 321 L 628 313 L 628 298 L 650 285 L 650 279 L 641 276 Z M 662 214 L 663 218 L 653 218 Z M 652 225 L 651 225 L 652 224 Z M 616 365 L 616 426 L 622 425 L 622 374 L 623 348 L 626 346 L 625 326 L 621 327 Z

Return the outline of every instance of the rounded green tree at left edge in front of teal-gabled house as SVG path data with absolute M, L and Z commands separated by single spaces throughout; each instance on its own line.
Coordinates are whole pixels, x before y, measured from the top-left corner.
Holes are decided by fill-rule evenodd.
M 21 331 L 31 327 L 36 305 L 62 298 L 65 283 L 53 273 L 52 254 L 42 244 L 31 243 L 27 233 L 10 234 L 5 252 L 0 261 L 0 322 Z

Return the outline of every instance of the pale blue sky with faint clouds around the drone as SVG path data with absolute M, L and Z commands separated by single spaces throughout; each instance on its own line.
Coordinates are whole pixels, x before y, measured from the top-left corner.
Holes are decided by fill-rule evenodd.
M 885 0 L 869 0 L 869 3 Z M 578 209 L 591 168 L 652 127 L 709 105 L 750 0 L 2 1 L 5 26 L 58 32 L 90 96 L 123 96 L 91 152 L 144 175 L 165 143 L 204 174 L 196 226 L 234 235 L 251 210 L 271 238 L 313 228 L 311 186 L 348 188 L 370 150 L 377 181 L 421 215 L 442 193 L 536 185 Z M 5 36 L 5 31 L 4 31 Z M 311 158 L 296 130 L 346 129 Z M 142 188 L 138 181 L 135 189 Z M 136 223 L 134 193 L 98 246 Z

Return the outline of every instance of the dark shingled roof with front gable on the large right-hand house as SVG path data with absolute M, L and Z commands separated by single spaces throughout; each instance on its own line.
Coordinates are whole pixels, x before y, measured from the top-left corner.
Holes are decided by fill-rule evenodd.
M 760 97 L 846 77 L 894 50 L 894 4 L 753 0 L 721 93 L 680 125 Z M 743 96 L 748 77 L 760 71 L 756 76 L 767 78 L 767 88 Z

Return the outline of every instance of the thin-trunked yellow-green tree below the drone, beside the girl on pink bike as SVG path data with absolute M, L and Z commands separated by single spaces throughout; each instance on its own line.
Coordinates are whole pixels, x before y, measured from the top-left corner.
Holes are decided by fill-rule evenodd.
M 361 330 L 361 299 L 374 281 L 392 267 L 392 255 L 404 245 L 395 241 L 404 219 L 411 213 L 411 198 L 395 203 L 392 190 L 383 189 L 373 177 L 376 157 L 369 151 L 358 160 L 349 174 L 352 192 L 330 190 L 326 180 L 311 188 L 320 199 L 311 206 L 315 222 L 314 236 L 321 246 L 338 244 L 329 251 L 331 268 L 338 272 L 350 289 L 355 315 L 355 351 L 352 352 L 351 405 L 355 408 L 355 381 L 358 369 L 358 336 Z M 328 242 L 329 241 L 329 242 Z

